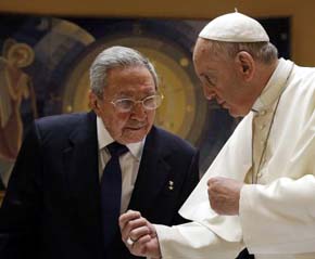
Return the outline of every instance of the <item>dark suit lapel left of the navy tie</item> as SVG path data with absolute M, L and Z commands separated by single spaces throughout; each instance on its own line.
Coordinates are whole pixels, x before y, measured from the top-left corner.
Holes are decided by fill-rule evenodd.
M 83 234 L 92 243 L 98 242 L 101 229 L 97 126 L 93 113 L 81 116 L 63 152 L 63 165 L 74 222 L 83 226 L 81 233 L 87 232 Z

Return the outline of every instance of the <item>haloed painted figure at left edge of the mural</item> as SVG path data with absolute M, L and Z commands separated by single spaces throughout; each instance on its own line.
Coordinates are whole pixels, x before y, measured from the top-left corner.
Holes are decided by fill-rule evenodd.
M 34 117 L 37 117 L 32 78 L 23 72 L 33 61 L 34 51 L 28 44 L 5 40 L 0 56 L 0 157 L 11 163 L 23 138 L 20 114 L 23 99 L 32 99 Z

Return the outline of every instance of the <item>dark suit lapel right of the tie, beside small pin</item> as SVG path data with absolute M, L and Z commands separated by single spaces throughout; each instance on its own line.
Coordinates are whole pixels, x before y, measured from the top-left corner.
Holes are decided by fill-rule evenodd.
M 164 159 L 159 130 L 153 127 L 147 135 L 143 154 L 129 208 L 143 210 L 152 207 L 152 200 L 165 186 L 169 165 Z

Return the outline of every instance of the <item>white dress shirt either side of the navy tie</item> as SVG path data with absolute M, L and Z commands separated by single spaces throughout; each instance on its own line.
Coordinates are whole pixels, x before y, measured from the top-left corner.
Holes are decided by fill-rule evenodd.
M 101 180 L 104 167 L 111 158 L 105 146 L 115 140 L 110 135 L 100 117 L 97 117 L 97 130 L 99 144 L 99 177 Z M 119 157 L 123 182 L 121 213 L 125 212 L 128 208 L 139 171 L 144 142 L 146 138 L 140 142 L 127 144 L 128 152 Z

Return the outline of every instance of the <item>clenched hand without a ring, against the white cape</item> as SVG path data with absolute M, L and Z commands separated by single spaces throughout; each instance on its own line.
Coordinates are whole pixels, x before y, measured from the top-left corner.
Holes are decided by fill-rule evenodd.
M 242 182 L 214 177 L 207 181 L 207 194 L 212 209 L 218 215 L 238 215 Z

